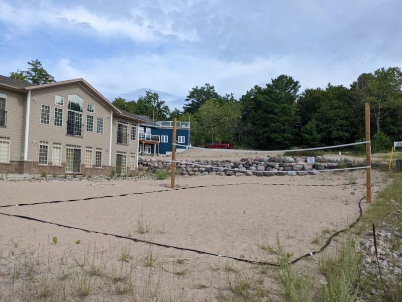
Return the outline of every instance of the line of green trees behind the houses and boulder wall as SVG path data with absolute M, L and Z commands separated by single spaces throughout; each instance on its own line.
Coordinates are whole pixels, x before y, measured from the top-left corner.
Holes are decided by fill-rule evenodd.
M 32 84 L 54 82 L 39 60 L 11 77 Z M 328 84 L 300 93 L 299 82 L 279 75 L 264 87 L 254 86 L 239 100 L 219 95 L 205 84 L 188 91 L 182 110 L 170 111 L 157 93 L 127 101 L 117 97 L 118 108 L 155 120 L 174 117 L 191 122 L 191 143 L 204 145 L 227 141 L 256 149 L 312 147 L 361 141 L 365 138 L 364 103 L 370 102 L 372 148 L 388 151 L 393 140 L 402 140 L 402 71 L 379 68 L 362 73 L 349 87 Z M 359 145 L 364 148 L 364 145 Z

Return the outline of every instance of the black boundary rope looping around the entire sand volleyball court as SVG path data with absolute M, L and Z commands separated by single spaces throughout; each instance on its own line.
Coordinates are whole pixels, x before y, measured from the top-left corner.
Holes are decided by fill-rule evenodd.
M 239 185 L 239 184 L 221 184 L 221 185 L 205 185 L 205 186 L 196 186 L 196 187 L 185 187 L 185 188 L 179 188 L 176 190 L 180 190 L 180 189 L 189 189 L 189 188 L 202 188 L 202 187 L 216 187 L 216 186 L 227 186 L 227 185 Z M 267 184 L 268 185 L 268 184 Z M 285 185 L 285 184 L 274 184 L 274 185 Z M 295 185 L 295 186 L 299 186 L 299 185 Z M 302 185 L 303 186 L 303 185 Z M 317 185 L 307 185 L 307 186 L 317 186 Z M 329 185 L 324 185 L 324 186 L 329 186 Z M 164 192 L 164 191 L 174 191 L 174 190 L 157 190 L 157 191 L 153 191 L 153 192 Z M 145 193 L 152 193 L 152 192 L 142 192 L 142 193 L 132 193 L 132 194 L 121 194 L 121 195 L 116 195 L 116 196 L 127 196 L 127 195 L 135 195 L 135 194 L 145 194 Z M 110 197 L 114 197 L 113 195 Z M 95 198 L 106 198 L 106 196 L 103 197 L 92 197 L 89 199 L 95 199 Z M 321 253 L 322 251 L 324 251 L 331 243 L 332 239 L 336 236 L 338 236 L 339 234 L 349 230 L 350 228 L 352 228 L 352 226 L 354 226 L 359 220 L 361 215 L 363 214 L 362 212 L 362 208 L 361 208 L 361 201 L 364 199 L 361 198 L 358 202 L 358 206 L 359 206 L 359 216 L 357 217 L 357 219 L 350 224 L 346 229 L 340 230 L 336 233 L 334 233 L 333 235 L 331 235 L 330 238 L 328 238 L 327 242 L 325 243 L 324 246 L 321 247 L 320 250 L 318 251 L 314 251 L 314 252 L 310 252 L 308 254 L 305 254 L 303 256 L 300 256 L 299 258 L 296 258 L 294 260 L 292 260 L 289 264 L 294 264 L 296 262 L 298 262 L 299 260 L 302 260 L 304 258 L 307 257 L 313 257 L 313 255 Z M 71 200 L 67 200 L 67 201 L 77 201 L 77 200 L 88 200 L 88 198 L 85 199 L 71 199 Z M 54 202 L 44 202 L 44 203 L 55 203 L 55 202 L 63 202 L 63 201 L 54 201 Z M 24 205 L 31 205 L 33 203 L 29 203 L 29 204 L 24 204 Z M 41 203 L 35 203 L 35 204 L 41 204 Z M 71 226 L 71 225 L 65 225 L 65 224 L 60 224 L 57 222 L 51 222 L 51 221 L 46 221 L 46 220 L 42 220 L 42 219 L 38 219 L 38 218 L 34 218 L 34 217 L 29 217 L 29 216 L 24 216 L 24 215 L 16 215 L 16 214 L 8 214 L 8 213 L 3 213 L 0 212 L 0 214 L 5 215 L 5 216 L 9 216 L 9 217 L 17 217 L 17 218 L 22 218 L 22 219 L 27 219 L 27 220 L 32 220 L 32 221 L 37 221 L 37 222 L 42 222 L 42 223 L 49 223 L 49 224 L 53 224 L 53 225 L 57 225 L 57 226 L 61 226 L 62 228 L 67 228 L 67 229 L 71 229 L 71 230 L 78 230 L 78 231 L 83 231 L 86 233 L 94 233 L 94 234 L 102 234 L 102 235 L 106 235 L 106 236 L 112 236 L 112 237 L 116 237 L 116 238 L 120 238 L 120 239 L 127 239 L 127 240 L 131 240 L 134 242 L 139 242 L 139 243 L 146 243 L 146 244 L 153 244 L 155 246 L 159 246 L 159 247 L 164 247 L 164 248 L 172 248 L 172 249 L 176 249 L 176 250 L 181 250 L 181 251 L 189 251 L 189 252 L 194 252 L 197 254 L 204 254 L 204 255 L 210 255 L 210 256 L 217 256 L 217 257 L 223 257 L 223 258 L 229 258 L 229 259 L 233 259 L 233 260 L 237 260 L 237 261 L 241 261 L 241 262 L 246 262 L 246 263 L 251 263 L 251 264 L 258 264 L 258 265 L 269 265 L 269 266 L 281 266 L 278 263 L 272 263 L 272 262 L 265 262 L 265 261 L 255 261 L 255 260 L 250 260 L 250 259 L 243 259 L 243 258 L 238 258 L 238 257 L 231 257 L 231 256 L 225 256 L 225 255 L 219 255 L 219 254 L 215 254 L 215 253 L 210 253 L 210 252 L 206 252 L 206 251 L 200 251 L 200 250 L 195 250 L 195 249 L 190 249 L 190 248 L 183 248 L 183 247 L 176 247 L 176 246 L 171 246 L 171 245 L 167 245 L 167 244 L 162 244 L 162 243 L 156 243 L 156 242 L 152 242 L 152 241 L 146 241 L 146 240 L 142 240 L 142 239 L 137 239 L 137 238 L 131 238 L 131 237 L 127 237 L 127 236 L 122 236 L 122 235 L 117 235 L 117 234 L 110 234 L 110 233 L 104 233 L 104 232 L 99 232 L 99 231 L 93 231 L 93 230 L 87 230 L 87 229 L 82 229 L 82 228 L 77 228 L 75 226 Z

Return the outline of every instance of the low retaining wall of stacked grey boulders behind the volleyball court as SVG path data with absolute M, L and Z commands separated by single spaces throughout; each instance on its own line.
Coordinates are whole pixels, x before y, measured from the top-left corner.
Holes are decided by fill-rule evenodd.
M 155 172 L 157 169 L 170 170 L 169 160 L 139 158 L 140 171 Z M 208 166 L 199 167 L 197 165 Z M 222 175 L 222 176 L 273 176 L 273 175 L 308 175 L 317 174 L 320 170 L 355 167 L 348 159 L 318 157 L 256 157 L 244 158 L 240 161 L 195 160 L 186 164 L 176 164 L 181 175 Z M 235 169 L 235 170 L 227 170 Z

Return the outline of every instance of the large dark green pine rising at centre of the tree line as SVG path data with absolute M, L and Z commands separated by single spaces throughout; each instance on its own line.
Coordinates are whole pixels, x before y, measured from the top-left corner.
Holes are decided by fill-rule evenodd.
M 288 75 L 272 79 L 266 88 L 255 86 L 242 96 L 243 120 L 254 131 L 257 148 L 290 147 L 298 141 L 296 111 L 299 82 Z

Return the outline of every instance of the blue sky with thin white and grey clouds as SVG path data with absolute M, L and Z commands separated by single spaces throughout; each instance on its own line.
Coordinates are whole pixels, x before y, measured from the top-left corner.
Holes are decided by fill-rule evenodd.
M 39 59 L 113 100 L 181 109 L 205 83 L 240 98 L 280 74 L 306 88 L 402 66 L 400 0 L 0 0 L 0 74 Z

